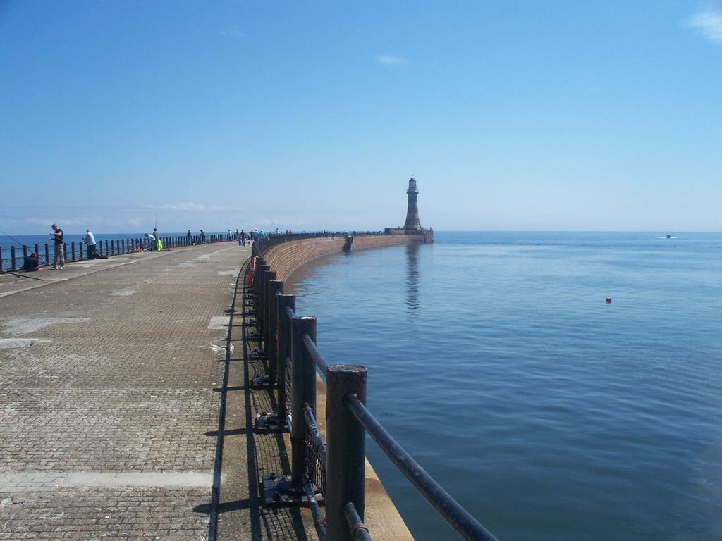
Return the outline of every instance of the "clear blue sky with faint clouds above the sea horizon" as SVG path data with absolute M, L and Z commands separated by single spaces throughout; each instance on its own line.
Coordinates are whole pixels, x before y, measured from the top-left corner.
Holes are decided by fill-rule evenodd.
M 0 228 L 722 231 L 722 4 L 0 0 Z

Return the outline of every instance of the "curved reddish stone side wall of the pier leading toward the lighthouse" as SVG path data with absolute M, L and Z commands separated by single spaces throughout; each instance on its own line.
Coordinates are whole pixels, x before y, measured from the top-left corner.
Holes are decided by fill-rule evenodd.
M 351 251 L 380 248 L 384 246 L 405 245 L 409 242 L 428 242 L 425 235 L 359 235 L 354 237 Z M 304 263 L 321 258 L 323 255 L 342 252 L 346 244 L 345 237 L 317 237 L 284 242 L 270 247 L 264 252 L 264 260 L 276 271 L 278 280 L 287 280 Z

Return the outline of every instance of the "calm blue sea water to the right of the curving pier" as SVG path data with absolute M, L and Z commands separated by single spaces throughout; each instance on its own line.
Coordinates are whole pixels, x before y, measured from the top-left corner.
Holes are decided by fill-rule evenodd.
M 656 236 L 438 232 L 307 265 L 298 311 L 500 539 L 719 540 L 722 234 Z M 417 540 L 457 538 L 367 454 Z

